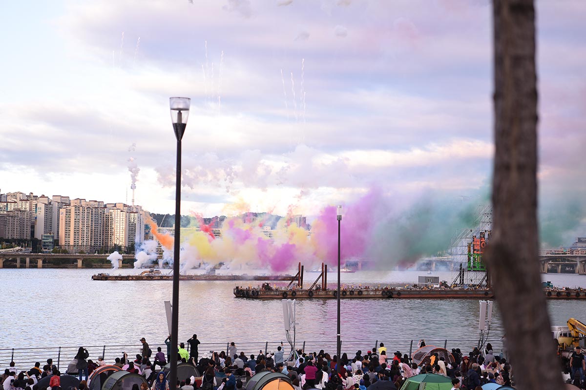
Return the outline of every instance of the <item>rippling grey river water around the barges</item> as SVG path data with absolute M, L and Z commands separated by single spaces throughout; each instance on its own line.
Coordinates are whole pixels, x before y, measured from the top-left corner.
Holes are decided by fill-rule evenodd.
M 100 270 L 101 271 L 101 270 Z M 146 337 L 162 344 L 168 334 L 163 301 L 171 301 L 171 281 L 92 281 L 96 270 L 4 269 L 0 286 L 0 349 L 139 344 Z M 142 270 L 110 273 L 138 274 Z M 423 271 L 359 271 L 342 274 L 342 283 L 370 285 L 414 283 Z M 433 272 L 451 281 L 451 272 Z M 306 273 L 311 284 L 318 274 Z M 335 274 L 329 275 L 335 281 Z M 586 288 L 584 275 L 544 275 L 559 286 Z M 257 285 L 260 282 L 250 282 Z M 284 340 L 281 301 L 234 298 L 236 284 L 249 282 L 180 283 L 179 340 L 197 333 L 202 343 Z M 549 301 L 554 325 L 570 317 L 584 320 L 586 301 Z M 345 340 L 478 339 L 479 303 L 475 299 L 342 299 Z M 490 339 L 503 334 L 498 308 Z M 297 340 L 336 339 L 336 301 L 297 302 Z M 276 347 L 273 346 L 273 348 Z M 271 348 L 271 347 L 270 347 Z M 313 348 L 312 348 L 313 349 Z

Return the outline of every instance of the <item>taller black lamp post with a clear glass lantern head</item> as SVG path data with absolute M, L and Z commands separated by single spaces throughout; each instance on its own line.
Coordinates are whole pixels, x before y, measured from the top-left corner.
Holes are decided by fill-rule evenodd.
M 169 98 L 171 122 L 177 139 L 177 166 L 175 182 L 175 239 L 173 250 L 173 299 L 171 310 L 171 372 L 169 388 L 177 388 L 177 344 L 179 336 L 179 227 L 181 222 L 181 139 L 189 117 L 189 98 Z

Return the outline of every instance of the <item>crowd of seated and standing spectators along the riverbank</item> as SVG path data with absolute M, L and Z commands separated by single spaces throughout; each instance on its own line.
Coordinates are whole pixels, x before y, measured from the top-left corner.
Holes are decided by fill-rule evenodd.
M 80 347 L 67 373 L 78 375 L 79 390 L 87 389 L 88 375 L 101 365 L 113 364 L 121 370 L 144 376 L 147 383 L 133 390 L 168 390 L 169 381 L 163 367 L 171 354 L 170 337 L 166 340 L 167 351 L 162 348 L 151 351 L 147 341 L 142 338 L 141 353 L 135 359 L 122 353 L 114 362 L 106 363 L 104 357 L 94 362 L 89 360 L 87 350 Z M 190 350 L 185 348 L 189 344 Z M 478 390 L 483 384 L 493 382 L 500 385 L 512 385 L 513 377 L 510 364 L 503 356 L 493 353 L 492 346 L 479 350 L 474 348 L 468 354 L 458 349 L 451 353 L 432 353 L 422 361 L 415 363 L 410 356 L 400 351 L 390 353 L 380 343 L 376 350 L 356 351 L 353 356 L 343 353 L 340 358 L 323 350 L 306 353 L 302 350 L 285 354 L 281 345 L 274 351 L 247 355 L 231 343 L 227 351 L 215 353 L 209 351 L 199 356 L 200 341 L 194 334 L 186 343 L 180 343 L 176 349 L 179 363 L 192 364 L 200 373 L 189 378 L 178 378 L 182 390 L 241 390 L 248 377 L 257 372 L 274 371 L 288 375 L 295 390 L 392 390 L 400 389 L 404 382 L 418 374 L 432 373 L 444 375 L 451 379 L 452 389 Z M 422 343 L 425 345 L 424 343 Z M 290 357 L 290 359 L 289 359 Z M 564 379 L 575 378 L 578 386 L 584 379 L 585 360 L 578 348 L 567 360 Z M 195 372 L 195 371 L 194 371 Z M 19 370 L 12 362 L 0 376 L 3 390 L 62 390 L 60 389 L 60 372 L 51 359 L 42 368 L 37 362 L 30 370 Z M 38 381 L 50 376 L 49 386 L 39 388 Z M 73 389 L 65 389 L 73 390 Z M 77 389 L 75 389 L 77 390 Z

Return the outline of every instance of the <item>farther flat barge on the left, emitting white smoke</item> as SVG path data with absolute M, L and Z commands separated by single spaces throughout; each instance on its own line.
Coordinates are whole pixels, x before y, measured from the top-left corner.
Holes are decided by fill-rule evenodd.
M 293 279 L 296 279 L 296 277 L 292 277 L 291 275 L 216 275 L 214 273 L 179 275 L 179 280 L 190 281 L 291 281 Z M 159 270 L 144 271 L 140 275 L 110 275 L 101 273 L 91 275 L 91 280 L 161 281 L 173 280 L 173 274 L 163 275 Z

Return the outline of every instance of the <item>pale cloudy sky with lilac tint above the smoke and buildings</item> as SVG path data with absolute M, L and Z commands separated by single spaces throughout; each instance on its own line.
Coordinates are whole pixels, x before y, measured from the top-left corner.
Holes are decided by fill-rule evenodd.
M 130 203 L 134 180 L 137 204 L 173 213 L 169 97 L 186 96 L 182 213 L 317 215 L 373 188 L 398 208 L 486 198 L 488 0 L 54 0 L 0 11 L 3 193 Z M 537 1 L 540 215 L 551 234 L 584 225 L 585 19 L 584 1 Z

